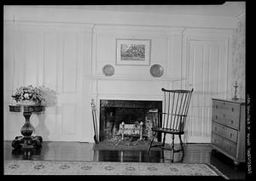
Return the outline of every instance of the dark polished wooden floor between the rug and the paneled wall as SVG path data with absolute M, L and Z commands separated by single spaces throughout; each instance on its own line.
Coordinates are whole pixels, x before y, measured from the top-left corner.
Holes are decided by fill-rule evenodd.
M 171 162 L 172 155 L 169 150 L 94 150 L 92 143 L 79 142 L 43 142 L 43 148 L 34 152 L 31 160 L 42 161 L 140 161 L 140 162 Z M 183 163 L 209 163 L 217 167 L 230 179 L 245 179 L 245 164 L 235 166 L 230 158 L 219 152 L 212 152 L 210 144 L 184 144 L 185 155 L 183 161 L 181 153 L 175 153 L 174 162 Z M 11 141 L 4 141 L 5 160 L 27 159 L 22 153 L 15 152 Z

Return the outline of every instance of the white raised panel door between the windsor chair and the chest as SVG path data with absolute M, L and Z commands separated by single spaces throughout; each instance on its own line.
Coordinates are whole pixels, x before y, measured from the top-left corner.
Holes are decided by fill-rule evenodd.
M 226 97 L 225 44 L 216 40 L 189 40 L 186 62 L 187 87 L 194 88 L 189 107 L 188 143 L 210 143 L 212 97 Z

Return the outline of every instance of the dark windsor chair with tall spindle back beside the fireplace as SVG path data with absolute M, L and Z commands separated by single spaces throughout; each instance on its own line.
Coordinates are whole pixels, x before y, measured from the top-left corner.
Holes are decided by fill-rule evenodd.
M 164 93 L 163 111 L 159 112 L 158 119 L 154 122 L 152 131 L 153 138 L 148 146 L 148 153 L 152 147 L 160 147 L 162 150 L 172 150 L 172 161 L 175 152 L 182 151 L 183 141 L 181 136 L 184 134 L 184 126 L 188 115 L 190 99 L 194 89 L 192 90 L 167 90 L 161 89 Z M 160 144 L 153 144 L 156 133 L 163 133 L 164 137 Z M 165 147 L 166 134 L 172 135 L 171 149 Z M 178 136 L 180 142 L 180 149 L 174 149 L 174 138 Z

